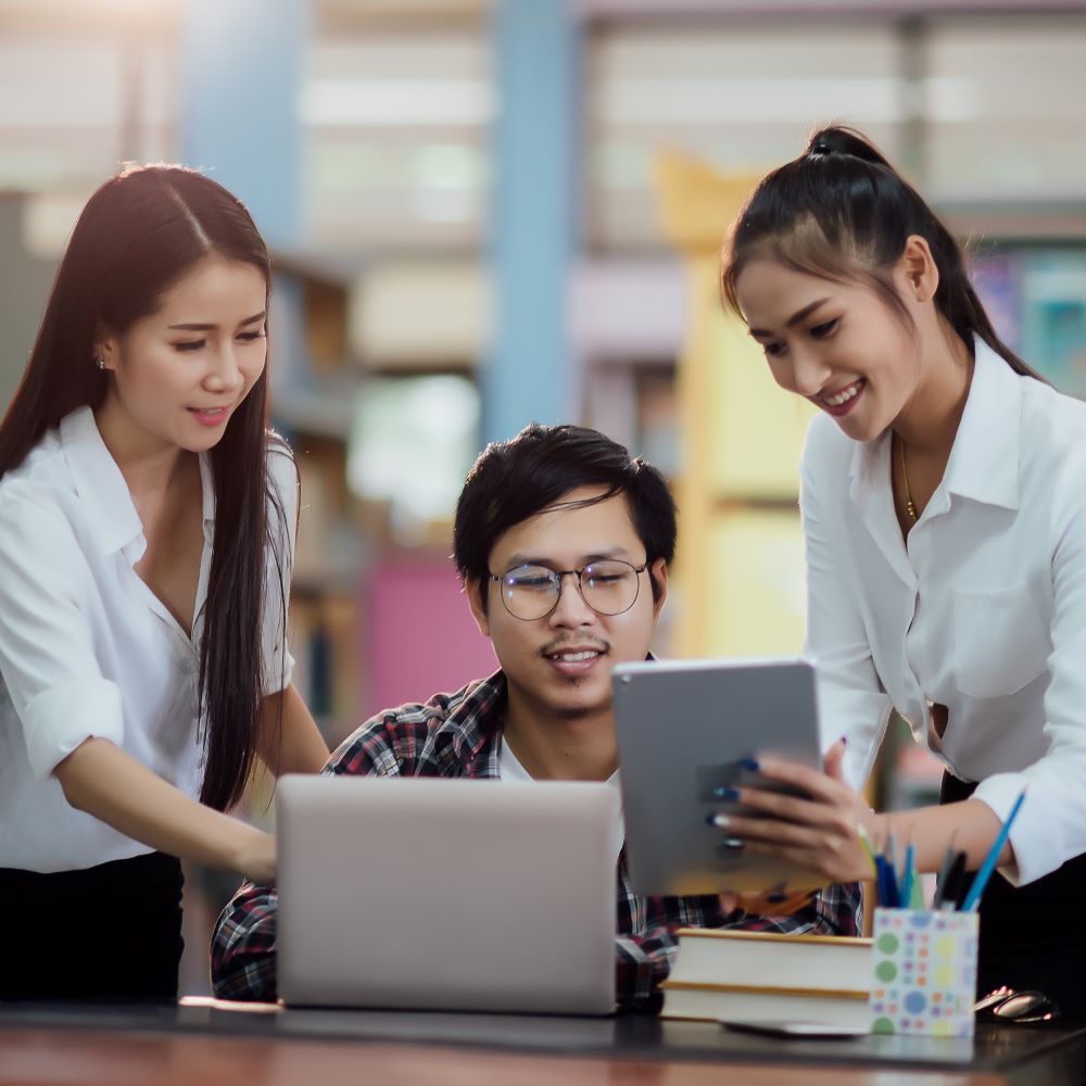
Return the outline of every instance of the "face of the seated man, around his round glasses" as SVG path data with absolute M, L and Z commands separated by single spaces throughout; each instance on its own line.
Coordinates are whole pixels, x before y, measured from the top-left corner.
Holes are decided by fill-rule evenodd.
M 598 497 L 604 488 L 583 487 L 548 509 L 514 525 L 490 553 L 490 571 L 502 574 L 531 564 L 552 570 L 581 569 L 602 558 L 632 566 L 646 561 L 645 546 L 621 494 L 595 505 L 569 503 Z M 654 601 L 649 571 L 661 586 Z M 558 604 L 544 618 L 526 621 L 506 610 L 501 586 L 468 586 L 471 610 L 491 639 L 509 682 L 510 712 L 576 719 L 610 710 L 615 664 L 643 660 L 667 595 L 662 558 L 637 574 L 637 597 L 621 615 L 597 615 L 584 602 L 576 577 L 561 579 Z

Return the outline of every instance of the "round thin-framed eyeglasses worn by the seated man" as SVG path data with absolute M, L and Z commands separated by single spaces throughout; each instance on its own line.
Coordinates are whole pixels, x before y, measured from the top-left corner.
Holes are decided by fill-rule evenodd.
M 547 566 L 517 566 L 490 579 L 502 586 L 502 603 L 514 617 L 531 622 L 546 618 L 561 598 L 561 580 L 576 577 L 581 598 L 597 615 L 621 615 L 636 602 L 641 574 L 648 561 L 631 566 L 621 558 L 604 558 L 581 569 L 551 569 Z

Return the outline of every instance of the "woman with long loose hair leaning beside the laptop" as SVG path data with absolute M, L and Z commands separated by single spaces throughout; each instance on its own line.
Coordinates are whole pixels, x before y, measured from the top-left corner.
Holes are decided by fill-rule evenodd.
M 320 769 L 290 685 L 296 472 L 268 429 L 270 260 L 177 166 L 84 209 L 0 424 L 0 999 L 171 998 L 178 857 L 267 882 L 224 813 Z

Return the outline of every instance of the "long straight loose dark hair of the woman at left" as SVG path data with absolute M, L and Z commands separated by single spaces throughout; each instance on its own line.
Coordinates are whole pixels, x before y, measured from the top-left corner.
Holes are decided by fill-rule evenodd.
M 105 399 L 110 376 L 92 358 L 99 330 L 123 336 L 209 255 L 257 268 L 270 292 L 270 256 L 256 225 L 241 201 L 211 178 L 181 166 L 137 166 L 94 192 L 68 241 L 22 382 L 0 422 L 0 477 L 65 415 L 84 405 L 96 408 Z M 257 747 L 269 566 L 280 571 L 278 609 L 286 611 L 287 531 L 282 503 L 268 479 L 272 441 L 278 439 L 268 431 L 265 366 L 211 452 L 216 512 L 200 649 L 200 709 L 207 722 L 200 798 L 218 810 L 240 798 Z M 274 591 L 276 579 L 267 580 Z

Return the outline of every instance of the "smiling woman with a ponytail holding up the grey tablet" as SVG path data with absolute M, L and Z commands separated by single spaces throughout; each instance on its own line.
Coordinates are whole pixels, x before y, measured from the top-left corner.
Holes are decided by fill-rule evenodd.
M 1019 795 L 981 902 L 980 985 L 1086 1011 L 1086 405 L 996 334 L 962 253 L 859 134 L 819 131 L 766 177 L 723 294 L 782 388 L 821 412 L 801 466 L 807 651 L 826 772 L 766 759 L 809 800 L 744 790 L 790 822 L 731 819 L 757 853 L 869 873 L 857 839 L 948 845 L 971 870 Z M 942 805 L 874 815 L 855 790 L 892 709 L 946 766 Z

